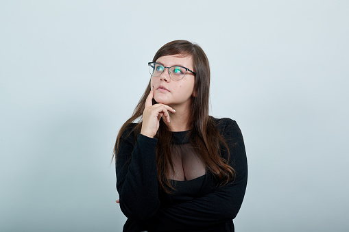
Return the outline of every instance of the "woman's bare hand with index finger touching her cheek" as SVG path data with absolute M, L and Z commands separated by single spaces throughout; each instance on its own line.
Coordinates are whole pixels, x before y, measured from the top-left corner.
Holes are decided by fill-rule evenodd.
M 167 123 L 170 123 L 169 112 L 176 112 L 176 110 L 162 103 L 157 103 L 153 105 L 153 98 L 154 86 L 152 87 L 152 90 L 150 90 L 149 95 L 145 100 L 145 107 L 143 111 L 143 123 L 141 129 L 141 134 L 150 138 L 154 138 L 154 136 L 156 135 L 156 132 L 158 131 L 160 125 L 160 118 L 164 116 Z

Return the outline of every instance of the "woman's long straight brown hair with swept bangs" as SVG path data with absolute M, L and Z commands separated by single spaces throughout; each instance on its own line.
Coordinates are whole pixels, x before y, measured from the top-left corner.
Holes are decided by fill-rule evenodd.
M 191 117 L 189 125 L 193 125 L 193 129 L 189 132 L 190 142 L 193 145 L 195 153 L 201 157 L 206 168 L 213 174 L 218 185 L 224 185 L 235 177 L 234 169 L 228 165 L 228 160 L 221 157 L 220 146 L 223 144 L 229 154 L 228 145 L 217 129 L 217 125 L 208 115 L 209 108 L 209 92 L 210 92 L 210 66 L 206 54 L 202 48 L 186 40 L 174 40 L 168 42 L 161 47 L 154 55 L 153 62 L 156 62 L 159 57 L 165 55 L 181 55 L 191 56 L 193 60 L 193 71 L 195 75 L 194 90 L 195 96 L 191 96 Z M 142 116 L 145 108 L 145 100 L 150 92 L 150 81 L 139 103 L 136 105 L 132 116 L 123 124 L 115 142 L 114 153 L 117 162 L 117 153 L 119 149 L 121 135 L 125 132 L 130 124 L 139 118 L 139 123 L 133 127 L 132 131 L 135 136 L 138 136 L 142 128 Z M 153 103 L 156 101 L 153 99 Z M 132 131 L 130 133 L 132 133 Z M 169 168 L 173 168 L 171 160 L 171 130 L 160 119 L 160 126 L 156 136 L 158 144 L 156 146 L 156 165 L 158 172 L 158 182 L 160 187 L 165 191 L 172 188 L 169 176 Z M 136 137 L 134 138 L 136 140 Z M 229 157 L 229 155 L 228 155 Z

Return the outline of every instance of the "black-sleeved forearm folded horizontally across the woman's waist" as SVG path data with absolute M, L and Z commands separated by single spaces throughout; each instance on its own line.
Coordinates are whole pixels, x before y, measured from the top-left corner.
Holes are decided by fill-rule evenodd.
M 245 179 L 230 183 L 192 201 L 160 207 L 151 220 L 154 231 L 180 231 L 214 227 L 237 216 L 245 193 Z M 171 228 L 168 227 L 171 224 Z

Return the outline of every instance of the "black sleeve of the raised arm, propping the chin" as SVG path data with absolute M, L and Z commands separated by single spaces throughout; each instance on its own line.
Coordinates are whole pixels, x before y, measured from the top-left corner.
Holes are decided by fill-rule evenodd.
M 158 177 L 156 172 L 156 138 L 141 133 L 134 144 L 133 134 L 121 136 L 117 153 L 117 191 L 120 208 L 126 217 L 144 221 L 156 214 Z

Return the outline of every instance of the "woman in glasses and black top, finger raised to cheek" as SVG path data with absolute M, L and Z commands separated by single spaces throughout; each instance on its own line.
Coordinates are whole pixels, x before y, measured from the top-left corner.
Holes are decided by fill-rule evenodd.
M 245 146 L 234 120 L 208 115 L 204 51 L 169 42 L 149 70 L 115 144 L 123 231 L 234 231 L 248 176 Z

